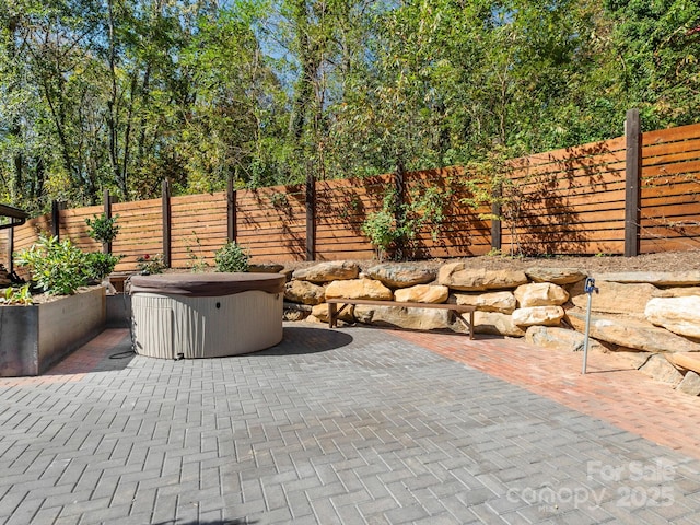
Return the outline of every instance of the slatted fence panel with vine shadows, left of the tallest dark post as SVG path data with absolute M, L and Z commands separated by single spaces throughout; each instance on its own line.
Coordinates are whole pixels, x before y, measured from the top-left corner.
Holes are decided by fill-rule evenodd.
M 504 247 L 539 255 L 623 249 L 623 140 L 537 154 L 512 165 L 513 186 L 504 191 L 521 211 L 504 224 Z

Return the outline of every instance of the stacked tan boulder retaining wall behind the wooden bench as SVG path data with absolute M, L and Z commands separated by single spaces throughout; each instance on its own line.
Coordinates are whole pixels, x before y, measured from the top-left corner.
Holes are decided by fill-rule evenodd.
M 380 264 L 364 272 L 348 261 L 322 262 L 290 275 L 285 317 L 327 322 L 326 299 L 472 304 L 475 332 L 524 337 L 571 351 L 583 349 L 587 273 L 578 268 L 525 271 L 438 270 Z M 677 389 L 700 395 L 700 271 L 594 273 L 592 351 L 625 353 L 637 368 Z M 464 331 L 448 311 L 355 306 L 340 319 L 409 329 Z

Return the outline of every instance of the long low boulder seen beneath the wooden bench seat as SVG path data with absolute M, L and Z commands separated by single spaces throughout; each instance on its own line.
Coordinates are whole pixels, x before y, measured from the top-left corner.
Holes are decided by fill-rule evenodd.
M 396 326 L 411 330 L 453 329 L 464 331 L 458 323 L 453 323 L 447 310 L 402 308 L 400 306 L 373 306 L 359 304 L 354 317 L 360 323 Z

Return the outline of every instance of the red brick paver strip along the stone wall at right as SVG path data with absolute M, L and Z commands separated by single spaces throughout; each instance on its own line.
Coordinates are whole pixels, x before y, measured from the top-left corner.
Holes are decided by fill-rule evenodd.
M 394 330 L 397 337 L 579 412 L 700 458 L 700 397 L 674 390 L 614 353 L 541 349 L 523 341 Z

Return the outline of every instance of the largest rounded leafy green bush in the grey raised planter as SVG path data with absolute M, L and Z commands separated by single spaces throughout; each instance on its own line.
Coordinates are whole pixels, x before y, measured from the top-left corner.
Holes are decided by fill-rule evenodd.
M 91 278 L 88 255 L 70 240 L 40 234 L 30 248 L 15 255 L 19 266 L 26 267 L 32 280 L 51 295 L 72 295 Z

